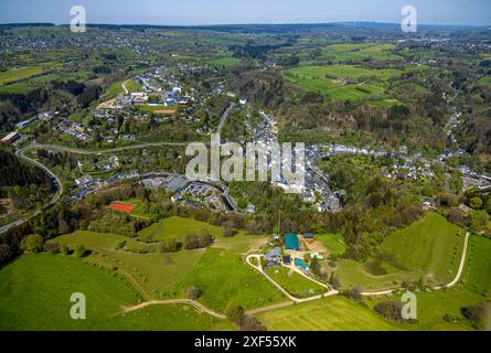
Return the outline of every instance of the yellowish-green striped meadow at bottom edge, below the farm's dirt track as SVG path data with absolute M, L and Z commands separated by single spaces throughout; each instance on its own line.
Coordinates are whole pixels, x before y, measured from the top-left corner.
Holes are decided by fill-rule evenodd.
M 391 331 L 401 329 L 370 309 L 331 297 L 258 314 L 269 331 Z

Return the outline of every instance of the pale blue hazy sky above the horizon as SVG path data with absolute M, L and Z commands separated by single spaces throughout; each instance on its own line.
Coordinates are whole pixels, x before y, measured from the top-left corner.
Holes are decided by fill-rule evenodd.
M 66 24 L 73 6 L 111 24 L 398 23 L 405 6 L 421 24 L 491 24 L 490 0 L 0 0 L 0 23 Z

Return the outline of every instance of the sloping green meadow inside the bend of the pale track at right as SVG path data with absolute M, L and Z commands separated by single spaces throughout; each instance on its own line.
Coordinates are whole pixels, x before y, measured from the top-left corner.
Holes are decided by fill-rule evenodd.
M 382 255 L 367 264 L 343 259 L 338 275 L 343 288 L 377 290 L 399 287 L 404 281 L 437 286 L 450 282 L 460 264 L 465 229 L 430 213 L 409 227 L 396 231 L 381 246 Z M 370 264 L 378 261 L 374 272 Z

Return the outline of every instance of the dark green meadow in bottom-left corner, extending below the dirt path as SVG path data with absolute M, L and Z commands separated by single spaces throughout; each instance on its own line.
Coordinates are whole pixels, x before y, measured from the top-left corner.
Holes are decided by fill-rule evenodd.
M 87 319 L 72 320 L 73 292 L 86 296 Z M 54 255 L 24 255 L 0 270 L 0 330 L 232 330 L 188 306 L 149 307 L 116 315 L 139 301 L 118 277 L 81 260 Z

